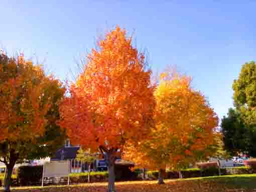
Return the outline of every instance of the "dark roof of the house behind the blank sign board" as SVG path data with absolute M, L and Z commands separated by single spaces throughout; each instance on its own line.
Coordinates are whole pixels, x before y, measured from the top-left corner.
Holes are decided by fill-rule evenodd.
M 56 151 L 51 160 L 67 160 L 76 158 L 76 152 L 80 147 L 62 147 Z M 63 155 L 63 159 L 62 159 Z

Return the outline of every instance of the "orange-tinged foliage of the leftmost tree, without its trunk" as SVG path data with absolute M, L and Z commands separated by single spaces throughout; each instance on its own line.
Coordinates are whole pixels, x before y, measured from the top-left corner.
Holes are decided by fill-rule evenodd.
M 23 55 L 16 59 L 0 53 L 0 143 L 33 142 L 42 136 L 54 99 L 47 87 L 59 83 Z

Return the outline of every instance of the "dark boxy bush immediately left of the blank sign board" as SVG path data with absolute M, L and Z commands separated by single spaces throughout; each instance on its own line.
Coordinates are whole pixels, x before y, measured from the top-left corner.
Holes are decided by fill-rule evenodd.
M 41 183 L 43 175 L 43 165 L 20 166 L 17 173 L 17 181 L 20 185 L 37 185 Z

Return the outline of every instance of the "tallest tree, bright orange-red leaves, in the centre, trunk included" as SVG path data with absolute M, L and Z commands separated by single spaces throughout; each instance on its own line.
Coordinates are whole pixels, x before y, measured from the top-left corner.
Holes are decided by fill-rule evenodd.
M 127 140 L 147 137 L 153 122 L 153 87 L 145 56 L 132 46 L 125 30 L 116 27 L 97 46 L 61 105 L 60 125 L 71 142 L 101 151 L 112 192 L 116 156 Z

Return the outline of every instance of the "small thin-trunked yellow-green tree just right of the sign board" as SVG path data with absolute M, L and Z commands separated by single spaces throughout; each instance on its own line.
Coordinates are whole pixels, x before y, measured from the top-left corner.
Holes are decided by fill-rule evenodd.
M 76 159 L 88 163 L 88 182 L 90 182 L 91 163 L 97 159 L 97 153 L 92 153 L 90 149 L 83 150 L 81 147 L 77 151 Z

